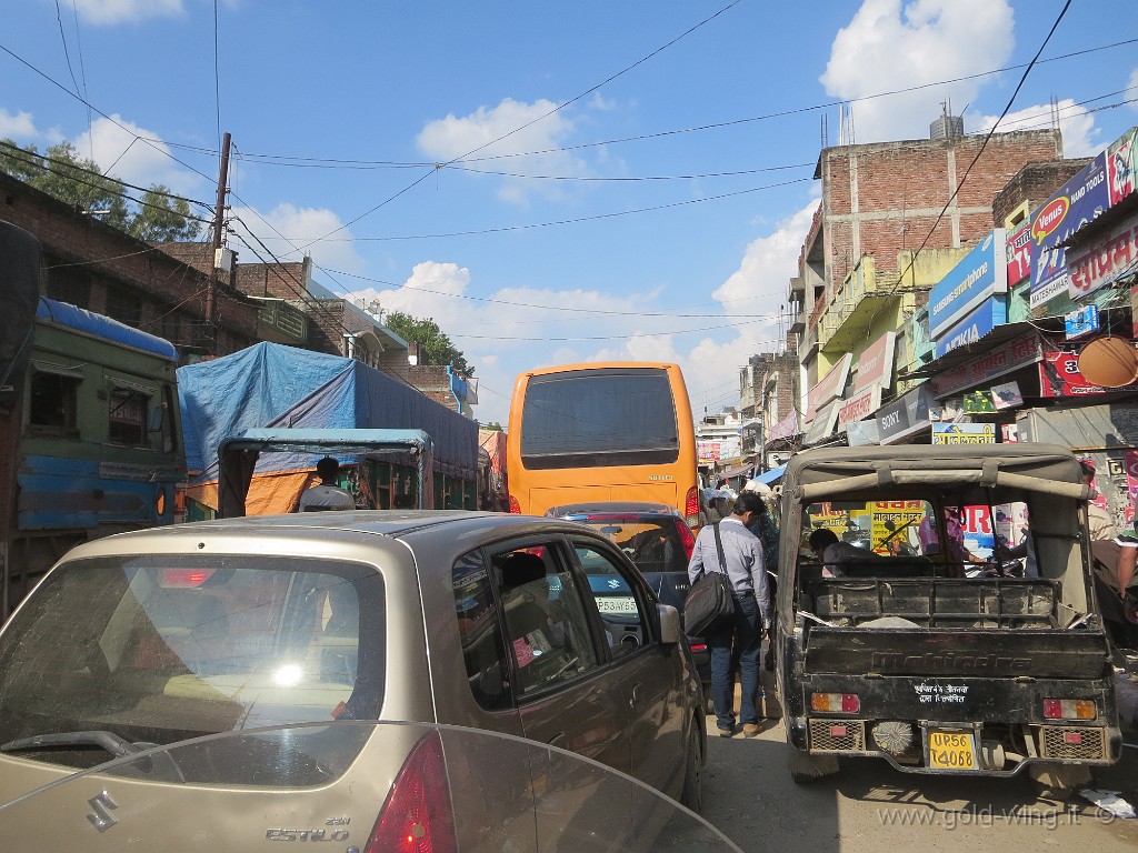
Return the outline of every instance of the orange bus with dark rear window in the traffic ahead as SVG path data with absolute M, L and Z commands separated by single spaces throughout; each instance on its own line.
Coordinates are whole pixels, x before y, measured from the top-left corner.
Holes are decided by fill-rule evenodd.
M 596 362 L 518 376 L 506 431 L 510 512 L 667 504 L 699 524 L 695 425 L 676 364 Z

